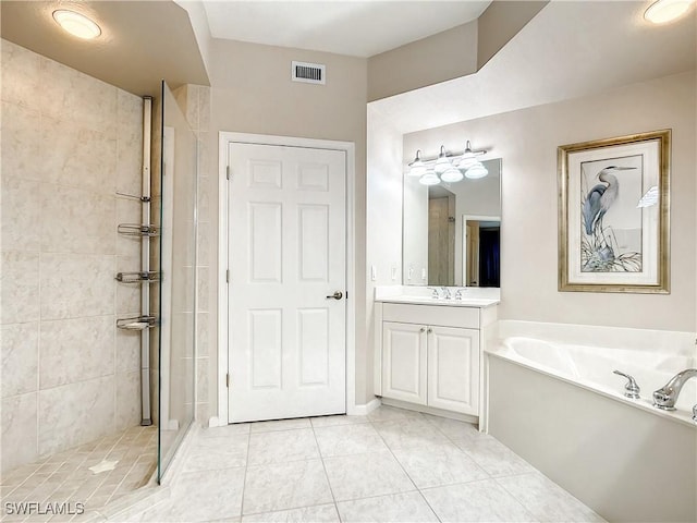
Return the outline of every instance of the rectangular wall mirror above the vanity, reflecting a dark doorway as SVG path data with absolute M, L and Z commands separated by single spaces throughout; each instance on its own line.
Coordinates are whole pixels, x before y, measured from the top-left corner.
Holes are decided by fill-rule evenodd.
M 485 178 L 423 185 L 404 175 L 402 281 L 405 285 L 499 287 L 500 158 Z

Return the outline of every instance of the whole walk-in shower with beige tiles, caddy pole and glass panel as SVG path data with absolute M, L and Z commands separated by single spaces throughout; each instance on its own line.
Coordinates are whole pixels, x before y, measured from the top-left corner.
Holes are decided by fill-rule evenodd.
M 164 85 L 150 121 L 0 42 L 2 515 L 98 511 L 159 479 L 193 421 L 196 137 Z

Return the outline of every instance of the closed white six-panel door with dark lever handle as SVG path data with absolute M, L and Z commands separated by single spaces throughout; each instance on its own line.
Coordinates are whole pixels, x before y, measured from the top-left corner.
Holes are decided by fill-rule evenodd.
M 345 151 L 231 143 L 229 159 L 229 421 L 343 413 Z

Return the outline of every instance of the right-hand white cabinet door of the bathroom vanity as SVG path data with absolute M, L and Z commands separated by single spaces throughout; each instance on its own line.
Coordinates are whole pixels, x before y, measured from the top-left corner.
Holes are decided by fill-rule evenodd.
M 479 415 L 479 330 L 428 328 L 428 405 Z

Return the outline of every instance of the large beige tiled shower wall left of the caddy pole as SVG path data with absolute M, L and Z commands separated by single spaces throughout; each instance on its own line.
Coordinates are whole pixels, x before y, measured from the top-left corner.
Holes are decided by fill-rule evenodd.
M 142 99 L 1 40 L 2 471 L 137 425 Z

